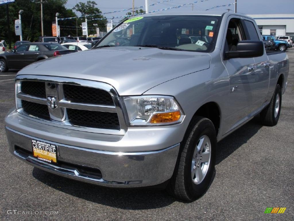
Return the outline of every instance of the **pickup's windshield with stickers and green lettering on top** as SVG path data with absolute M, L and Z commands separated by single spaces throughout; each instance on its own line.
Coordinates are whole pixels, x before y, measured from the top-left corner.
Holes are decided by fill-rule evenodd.
M 134 17 L 111 31 L 96 47 L 141 46 L 210 52 L 220 16 L 161 15 Z

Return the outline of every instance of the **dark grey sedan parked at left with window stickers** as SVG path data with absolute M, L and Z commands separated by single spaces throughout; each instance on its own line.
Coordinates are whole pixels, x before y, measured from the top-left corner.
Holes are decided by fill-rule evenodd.
M 6 72 L 9 68 L 21 69 L 35 61 L 72 52 L 57 43 L 25 43 L 12 52 L 0 54 L 0 72 Z

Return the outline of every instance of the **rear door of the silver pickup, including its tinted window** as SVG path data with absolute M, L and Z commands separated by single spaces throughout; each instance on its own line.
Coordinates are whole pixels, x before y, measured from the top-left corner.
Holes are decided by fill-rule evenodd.
M 262 41 L 261 36 L 258 34 L 255 23 L 247 18 L 243 19 L 245 27 L 246 40 Z M 251 76 L 254 78 L 252 83 L 252 93 L 253 93 L 253 110 L 256 111 L 263 107 L 266 102 L 266 95 L 268 93 L 268 85 L 270 80 L 270 63 L 268 61 L 268 56 L 264 50 L 263 56 L 254 57 L 255 70 L 251 72 Z

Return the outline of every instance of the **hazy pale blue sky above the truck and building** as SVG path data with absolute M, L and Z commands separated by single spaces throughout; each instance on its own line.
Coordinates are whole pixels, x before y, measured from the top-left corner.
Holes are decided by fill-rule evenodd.
M 86 2 L 87 0 L 68 0 L 66 7 L 73 8 L 78 2 Z M 91 0 L 97 3 L 97 7 L 102 12 L 111 12 L 118 11 L 122 9 L 128 9 L 132 7 L 133 0 Z M 164 0 L 148 0 L 148 4 L 153 4 L 156 2 L 162 2 Z M 157 9 L 165 9 L 173 6 L 179 6 L 186 3 L 193 3 L 196 0 L 171 0 L 161 4 L 156 4 L 155 6 L 149 6 L 149 11 Z M 227 5 L 234 3 L 235 0 L 207 0 L 205 2 L 198 2 L 193 4 L 193 10 L 204 11 L 214 6 Z M 266 2 L 266 3 L 265 3 Z M 274 0 L 237 0 L 237 12 L 244 14 L 294 14 L 294 4 L 293 0 L 283 0 L 283 1 L 274 1 Z M 144 6 L 145 0 L 135 0 L 136 6 Z M 279 7 L 279 5 L 281 5 Z M 234 11 L 235 6 L 226 6 L 212 9 L 211 11 L 226 11 L 226 9 L 231 9 Z M 145 10 L 145 8 L 143 8 Z M 192 11 L 192 5 L 183 6 L 177 9 L 170 9 L 168 11 Z M 106 14 L 106 17 L 115 17 L 123 16 L 127 11 L 117 12 L 112 14 Z M 118 21 L 120 19 L 115 19 Z

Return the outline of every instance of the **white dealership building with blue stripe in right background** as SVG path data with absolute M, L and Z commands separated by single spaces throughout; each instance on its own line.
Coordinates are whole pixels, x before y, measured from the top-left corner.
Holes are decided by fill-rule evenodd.
M 252 14 L 261 34 L 294 36 L 294 14 Z

